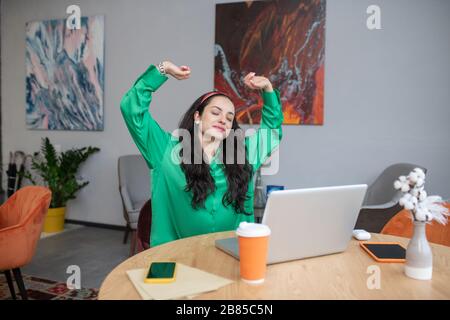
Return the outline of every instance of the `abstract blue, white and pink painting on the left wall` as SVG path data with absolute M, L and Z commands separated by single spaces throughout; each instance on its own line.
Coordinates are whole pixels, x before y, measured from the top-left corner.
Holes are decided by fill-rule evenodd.
M 28 129 L 103 130 L 104 16 L 26 24 Z

